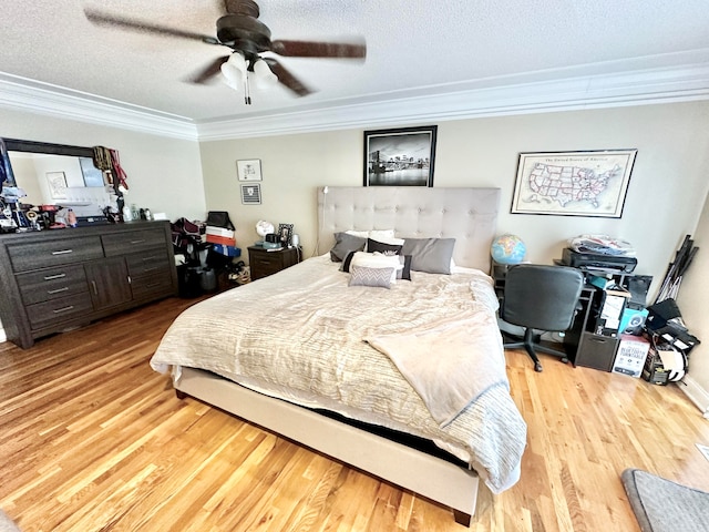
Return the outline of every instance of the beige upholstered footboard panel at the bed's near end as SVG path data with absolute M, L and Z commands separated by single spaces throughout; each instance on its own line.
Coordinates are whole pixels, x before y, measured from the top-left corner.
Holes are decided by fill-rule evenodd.
M 205 401 L 348 466 L 450 507 L 470 525 L 480 478 L 470 469 L 391 439 L 274 399 L 212 372 L 182 368 L 178 393 Z

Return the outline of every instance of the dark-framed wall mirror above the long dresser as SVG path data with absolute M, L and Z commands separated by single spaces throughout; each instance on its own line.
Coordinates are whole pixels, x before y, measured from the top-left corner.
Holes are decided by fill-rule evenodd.
M 4 139 L 23 204 L 71 207 L 78 216 L 115 206 L 113 186 L 93 164 L 93 149 Z

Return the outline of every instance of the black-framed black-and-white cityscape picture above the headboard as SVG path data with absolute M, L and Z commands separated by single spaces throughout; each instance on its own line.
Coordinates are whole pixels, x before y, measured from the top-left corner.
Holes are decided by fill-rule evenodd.
M 433 186 L 436 125 L 364 132 L 364 186 Z

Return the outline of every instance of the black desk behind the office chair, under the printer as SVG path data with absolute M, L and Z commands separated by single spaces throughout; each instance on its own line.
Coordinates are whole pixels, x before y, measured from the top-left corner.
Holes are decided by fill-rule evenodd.
M 555 262 L 557 266 L 563 266 Z M 491 276 L 494 280 L 495 293 L 502 304 L 504 297 L 504 279 L 507 269 L 511 266 L 493 262 Z M 583 270 L 586 275 L 603 275 L 603 272 Z M 640 285 L 646 287 L 645 293 L 634 294 L 634 300 L 639 300 L 645 305 L 645 295 L 647 287 L 653 282 L 651 276 L 633 275 L 626 273 L 606 272 L 610 275 L 616 284 L 624 288 Z M 594 296 L 600 290 L 593 285 L 586 284 L 582 289 L 578 298 L 580 309 L 574 318 L 572 327 L 564 334 L 564 350 L 567 358 L 574 366 L 584 366 L 588 368 L 599 369 L 602 371 L 610 371 L 615 360 L 616 350 L 618 348 L 619 338 L 617 336 L 599 335 L 595 331 L 596 315 L 594 308 Z M 630 290 L 634 291 L 634 290 Z

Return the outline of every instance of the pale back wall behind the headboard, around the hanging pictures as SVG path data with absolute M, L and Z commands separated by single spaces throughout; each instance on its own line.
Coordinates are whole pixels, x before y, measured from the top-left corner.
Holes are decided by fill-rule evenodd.
M 699 218 L 709 181 L 709 102 L 439 122 L 434 186 L 502 188 L 499 232 L 520 235 L 527 259 L 561 257 L 567 238 L 609 234 L 637 248 L 636 273 L 659 283 L 685 234 Z M 257 239 L 258 219 L 294 223 L 306 255 L 316 238 L 316 187 L 359 186 L 361 130 L 204 142 L 209 209 L 229 211 L 244 248 Z M 520 152 L 638 149 L 623 217 L 510 214 Z M 243 205 L 236 161 L 260 158 L 263 205 Z

